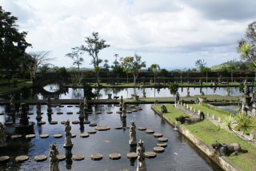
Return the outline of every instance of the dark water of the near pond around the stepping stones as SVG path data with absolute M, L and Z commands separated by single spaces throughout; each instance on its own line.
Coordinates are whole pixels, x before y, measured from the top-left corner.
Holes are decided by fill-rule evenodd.
M 127 113 L 126 120 L 122 120 L 120 114 L 115 113 L 118 107 L 106 106 L 93 108 L 97 111 L 102 111 L 102 114 L 90 114 L 88 119 L 92 123 L 97 123 L 98 125 L 109 125 L 110 130 L 98 131 L 95 134 L 90 134 L 90 137 L 82 138 L 79 137 L 80 133 L 86 133 L 94 127 L 85 125 L 84 130 L 81 129 L 80 125 L 73 125 L 71 133 L 76 133 L 77 137 L 72 138 L 74 147 L 72 149 L 73 154 L 83 154 L 86 156 L 83 161 L 60 161 L 60 170 L 90 170 L 90 171 L 117 171 L 120 169 L 130 169 L 135 170 L 137 166 L 137 161 L 130 161 L 126 157 L 126 153 L 130 153 L 129 145 L 129 129 L 114 129 L 116 125 L 130 125 L 130 121 L 134 120 L 137 128 L 139 126 L 144 126 L 147 129 L 154 129 L 155 133 L 163 133 L 163 137 L 167 137 L 169 141 L 167 142 L 167 147 L 164 153 L 158 153 L 157 157 L 152 159 L 146 158 L 146 166 L 149 171 L 180 171 L 180 170 L 222 170 L 218 166 L 214 165 L 208 157 L 203 153 L 198 152 L 198 149 L 194 147 L 190 141 L 187 141 L 181 133 L 178 133 L 171 127 L 166 121 L 155 114 L 151 109 L 150 105 L 141 105 L 142 110 L 138 112 Z M 30 112 L 35 111 L 36 106 L 30 105 Z M 9 155 L 11 161 L 8 164 L 0 164 L 0 170 L 49 170 L 49 157 L 47 161 L 36 162 L 34 157 L 39 154 L 44 154 L 48 156 L 49 145 L 52 142 L 56 142 L 58 145 L 58 151 L 60 154 L 65 155 L 65 149 L 63 148 L 64 137 L 54 138 L 52 137 L 55 133 L 64 132 L 64 125 L 61 125 L 61 121 L 66 121 L 70 119 L 71 121 L 78 121 L 78 107 L 68 108 L 66 105 L 64 108 L 53 108 L 54 114 L 52 115 L 52 121 L 58 121 L 58 125 L 48 124 L 48 117 L 46 114 L 46 105 L 42 105 L 42 121 L 46 121 L 46 125 L 35 125 L 34 133 L 36 137 L 32 140 L 9 140 L 8 147 L 1 149 L 0 155 Z M 111 110 L 114 113 L 107 114 L 106 111 Z M 0 112 L 4 112 L 4 106 L 0 107 Z M 58 111 L 62 111 L 64 114 L 57 115 Z M 67 115 L 66 112 L 74 112 L 72 115 Z M 30 115 L 30 121 L 35 121 L 36 114 Z M 6 115 L 0 116 L 0 121 L 5 122 Z M 13 133 L 12 126 L 5 126 L 8 133 Z M 144 131 L 137 131 L 137 141 L 142 139 L 144 141 L 146 151 L 153 151 L 153 148 L 158 143 L 156 137 L 152 134 L 147 134 Z M 39 134 L 48 133 L 49 138 L 41 139 Z M 90 155 L 93 153 L 102 153 L 103 159 L 101 161 L 92 161 Z M 112 161 L 109 159 L 110 153 L 120 153 L 122 155 L 120 160 Z M 17 163 L 14 161 L 14 157 L 18 155 L 28 155 L 30 157 L 29 161 L 24 163 Z

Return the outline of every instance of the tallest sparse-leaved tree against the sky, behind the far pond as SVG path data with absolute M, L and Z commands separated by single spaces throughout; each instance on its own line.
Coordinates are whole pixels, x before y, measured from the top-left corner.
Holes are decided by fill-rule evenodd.
M 86 46 L 81 46 L 81 50 L 88 52 L 88 54 L 93 58 L 94 67 L 98 66 L 101 62 L 98 58 L 98 54 L 100 50 L 103 50 L 110 45 L 106 44 L 106 41 L 100 39 L 98 36 L 98 32 L 93 32 L 91 36 L 86 37 Z

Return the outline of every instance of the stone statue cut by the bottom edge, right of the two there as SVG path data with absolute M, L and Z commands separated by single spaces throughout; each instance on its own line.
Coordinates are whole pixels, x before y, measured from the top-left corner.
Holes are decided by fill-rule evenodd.
M 140 140 L 138 142 L 138 167 L 137 171 L 146 171 L 146 163 L 145 163 L 145 148 L 144 148 L 144 142 Z

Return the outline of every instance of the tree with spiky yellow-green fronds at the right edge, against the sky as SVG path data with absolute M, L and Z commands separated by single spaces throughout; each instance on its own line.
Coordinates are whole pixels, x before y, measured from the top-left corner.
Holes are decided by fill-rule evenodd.
M 238 53 L 243 60 L 256 66 L 256 22 L 251 22 L 246 29 L 246 39 L 238 41 Z

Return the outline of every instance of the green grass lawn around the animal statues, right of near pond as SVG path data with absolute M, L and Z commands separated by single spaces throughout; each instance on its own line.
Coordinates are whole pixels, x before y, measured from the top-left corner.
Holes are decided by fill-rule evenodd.
M 161 111 L 161 105 L 157 105 L 157 109 Z M 174 108 L 174 105 L 166 105 L 168 113 L 164 113 L 170 120 L 174 121 L 175 117 L 187 116 L 186 113 Z M 213 112 L 213 111 L 211 111 Z M 214 141 L 221 143 L 238 142 L 243 150 L 247 150 L 247 153 L 239 153 L 238 156 L 227 157 L 230 161 L 237 165 L 240 169 L 245 171 L 256 170 L 256 147 L 250 145 L 246 141 L 240 140 L 233 133 L 229 133 L 224 129 L 218 129 L 218 127 L 212 124 L 208 120 L 199 121 L 193 125 L 185 125 L 194 135 L 205 141 L 206 144 L 211 145 Z

